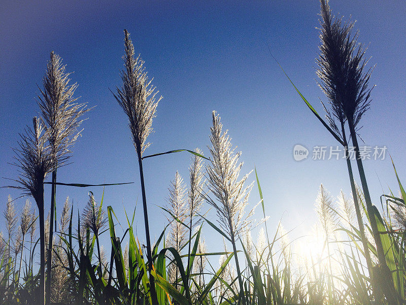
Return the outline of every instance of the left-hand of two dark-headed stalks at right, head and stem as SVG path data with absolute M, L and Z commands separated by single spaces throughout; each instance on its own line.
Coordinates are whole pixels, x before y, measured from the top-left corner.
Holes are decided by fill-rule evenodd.
M 380 299 L 382 294 L 380 293 L 380 289 L 377 285 L 377 280 L 373 275 L 373 264 L 370 258 L 367 239 L 365 237 L 364 225 L 362 222 L 358 198 L 356 195 L 354 175 L 352 171 L 345 131 L 345 123 L 347 121 L 345 113 L 345 103 L 348 98 L 353 98 L 352 96 L 350 96 L 351 94 L 349 94 L 348 90 L 352 89 L 352 87 L 356 85 L 355 83 L 351 84 L 351 81 L 347 78 L 352 75 L 350 67 L 351 65 L 354 65 L 354 63 L 352 63 L 352 56 L 357 46 L 356 42 L 358 33 L 355 34 L 355 36 L 352 36 L 351 34 L 354 27 L 354 22 L 348 21 L 343 24 L 342 18 L 333 19 L 331 9 L 328 5 L 328 2 L 325 0 L 321 0 L 320 16 L 322 17 L 322 20 L 320 21 L 321 45 L 319 47 L 319 58 L 317 58 L 316 61 L 319 67 L 319 69 L 317 70 L 317 75 L 321 79 L 321 83 L 318 82 L 318 84 L 328 98 L 329 104 L 331 106 L 331 112 L 327 110 L 326 107 L 324 107 L 327 112 L 327 119 L 330 123 L 330 127 L 337 134 L 339 134 L 343 140 L 351 191 L 354 199 L 354 206 L 365 260 L 369 274 L 371 276 L 373 291 L 376 294 L 377 299 Z M 354 94 L 354 90 L 352 94 Z M 361 95 L 363 95 L 363 93 L 361 93 Z M 335 123 L 335 119 L 339 121 L 338 126 Z

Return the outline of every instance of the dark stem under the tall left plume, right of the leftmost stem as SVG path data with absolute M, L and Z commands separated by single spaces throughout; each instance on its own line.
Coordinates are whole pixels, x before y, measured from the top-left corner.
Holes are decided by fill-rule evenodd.
M 49 245 L 48 245 L 48 260 L 47 260 L 47 282 L 45 286 L 46 304 L 51 303 L 51 279 L 52 279 L 52 248 L 53 248 L 53 234 L 54 234 L 54 218 L 56 230 L 56 215 L 55 215 L 55 194 L 56 194 L 56 169 L 52 171 L 52 189 L 51 189 L 51 215 L 49 221 Z

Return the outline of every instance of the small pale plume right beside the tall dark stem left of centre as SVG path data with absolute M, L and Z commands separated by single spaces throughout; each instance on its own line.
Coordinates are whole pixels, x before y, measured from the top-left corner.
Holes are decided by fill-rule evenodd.
M 175 179 L 171 181 L 171 186 L 168 188 L 169 196 L 167 198 L 167 208 L 170 210 L 174 217 L 177 220 L 174 220 L 172 217 L 168 218 L 168 221 L 171 223 L 171 232 L 170 232 L 170 239 L 168 240 L 168 246 L 173 247 L 179 253 L 181 248 L 186 240 L 186 228 L 181 222 L 185 222 L 187 219 L 187 209 L 188 206 L 186 205 L 186 188 L 183 182 L 183 178 L 178 173 L 175 174 Z M 172 263 L 171 269 L 171 276 L 175 277 L 175 283 L 178 282 L 178 273 L 179 269 L 176 266 L 176 263 Z M 175 268 L 175 270 L 173 270 Z M 175 272 L 175 274 L 173 274 Z

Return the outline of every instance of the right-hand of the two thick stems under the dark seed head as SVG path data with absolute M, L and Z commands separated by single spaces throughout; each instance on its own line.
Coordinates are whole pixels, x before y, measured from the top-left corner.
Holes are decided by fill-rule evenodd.
M 381 269 L 380 270 L 381 275 L 384 277 L 384 278 L 381 278 L 382 288 L 383 288 L 384 294 L 385 294 L 387 300 L 389 301 L 389 303 L 396 304 L 397 300 L 396 300 L 394 286 L 393 286 L 393 279 L 392 279 L 392 275 L 389 270 L 389 267 L 386 264 L 385 252 L 384 252 L 384 248 L 382 246 L 381 236 L 378 231 L 377 220 L 375 219 L 375 212 L 374 212 L 374 208 L 372 205 L 371 197 L 369 195 L 368 185 L 366 183 L 364 167 L 362 165 L 362 160 L 360 158 L 357 134 L 355 132 L 354 124 L 351 121 L 349 121 L 348 123 L 349 123 L 349 127 L 350 127 L 352 143 L 354 145 L 355 157 L 357 160 L 357 166 L 358 166 L 359 176 L 361 179 L 362 190 L 364 192 L 365 204 L 366 204 L 366 209 L 367 209 L 368 216 L 369 216 L 369 222 L 371 225 L 372 234 L 374 236 L 374 240 L 375 240 L 375 244 L 376 244 L 377 256 L 378 256 L 378 260 L 379 260 L 379 264 L 380 264 L 379 267 Z

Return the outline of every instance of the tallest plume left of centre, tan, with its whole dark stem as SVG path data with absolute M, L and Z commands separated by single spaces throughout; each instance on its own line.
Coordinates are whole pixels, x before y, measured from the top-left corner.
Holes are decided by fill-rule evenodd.
M 152 119 L 155 117 L 156 107 L 162 99 L 162 96 L 156 99 L 158 91 L 155 90 L 155 87 L 151 84 L 152 80 L 149 80 L 147 76 L 147 72 L 144 68 L 144 60 L 141 59 L 140 55 L 138 57 L 134 56 L 134 46 L 127 30 L 124 30 L 124 34 L 125 55 L 123 56 L 123 60 L 125 69 L 120 73 L 123 85 L 120 88 L 116 87 L 117 93 L 113 93 L 113 95 L 128 116 L 128 127 L 131 131 L 132 142 L 137 151 L 141 191 L 143 195 L 150 292 L 152 302 L 157 303 L 158 299 L 155 291 L 154 277 L 151 273 L 153 261 L 142 156 L 145 149 L 150 145 L 150 143 L 147 142 L 147 138 L 152 132 Z

